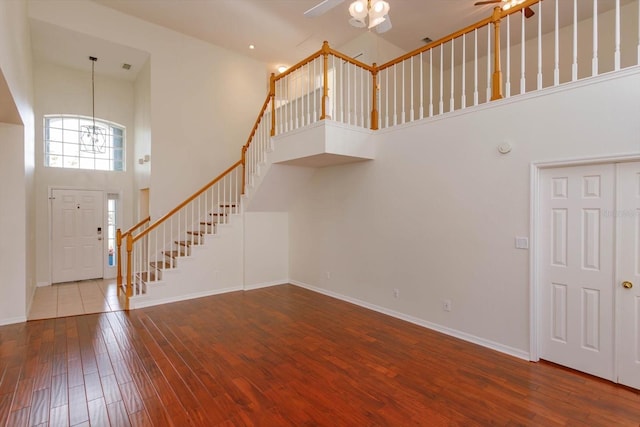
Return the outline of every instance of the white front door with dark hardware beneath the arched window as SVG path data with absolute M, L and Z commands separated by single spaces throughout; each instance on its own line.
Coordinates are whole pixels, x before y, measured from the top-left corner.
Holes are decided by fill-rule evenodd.
M 52 283 L 103 276 L 101 191 L 52 190 Z

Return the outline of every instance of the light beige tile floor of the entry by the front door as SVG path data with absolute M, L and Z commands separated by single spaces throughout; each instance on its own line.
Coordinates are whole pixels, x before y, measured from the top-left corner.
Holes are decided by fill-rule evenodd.
M 115 279 L 59 283 L 36 289 L 28 319 L 118 311 L 124 304 L 124 297 L 118 298 Z

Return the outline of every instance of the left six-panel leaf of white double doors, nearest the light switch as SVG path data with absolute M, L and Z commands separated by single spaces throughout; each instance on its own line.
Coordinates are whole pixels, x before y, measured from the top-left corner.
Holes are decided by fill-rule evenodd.
M 541 357 L 613 380 L 615 166 L 541 171 Z

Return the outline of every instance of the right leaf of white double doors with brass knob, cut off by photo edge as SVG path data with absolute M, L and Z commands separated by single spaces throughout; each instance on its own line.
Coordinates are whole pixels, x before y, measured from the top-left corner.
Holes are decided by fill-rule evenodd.
M 640 163 L 617 168 L 618 382 L 640 389 Z

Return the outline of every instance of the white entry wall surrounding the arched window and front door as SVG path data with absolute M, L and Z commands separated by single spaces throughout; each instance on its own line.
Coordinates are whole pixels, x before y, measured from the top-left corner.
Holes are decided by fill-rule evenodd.
M 91 116 L 91 74 L 39 62 L 34 73 L 36 91 L 36 241 L 37 281 L 50 284 L 49 189 L 83 188 L 121 194 L 122 217 L 118 226 L 133 225 L 134 91 L 133 84 L 105 76 L 95 77 L 96 117 L 126 128 L 126 171 L 85 171 L 44 166 L 43 117 L 47 114 Z M 137 164 L 137 163 L 136 163 Z M 106 229 L 106 224 L 105 224 Z M 113 272 L 111 272 L 113 273 Z M 106 272 L 105 272 L 106 274 Z M 107 274 L 107 276 L 109 276 Z M 105 276 L 105 277 L 107 277 Z

